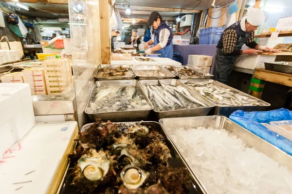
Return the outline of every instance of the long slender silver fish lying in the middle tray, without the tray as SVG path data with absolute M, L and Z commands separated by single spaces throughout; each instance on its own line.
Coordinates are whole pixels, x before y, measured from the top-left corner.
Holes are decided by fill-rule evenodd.
M 167 85 L 160 81 L 158 85 L 142 85 L 155 111 L 170 111 L 206 107 L 204 103 L 192 97 L 182 86 Z

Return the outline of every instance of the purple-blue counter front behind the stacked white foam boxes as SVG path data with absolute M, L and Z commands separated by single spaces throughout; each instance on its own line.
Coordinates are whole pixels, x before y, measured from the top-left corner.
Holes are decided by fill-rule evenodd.
M 215 55 L 216 55 L 216 46 L 217 45 L 174 45 L 173 52 L 178 52 L 182 58 L 182 64 L 187 64 L 187 59 L 189 55 L 208 55 L 213 57 L 213 62 L 211 66 L 210 73 L 214 72 L 214 63 L 215 63 Z

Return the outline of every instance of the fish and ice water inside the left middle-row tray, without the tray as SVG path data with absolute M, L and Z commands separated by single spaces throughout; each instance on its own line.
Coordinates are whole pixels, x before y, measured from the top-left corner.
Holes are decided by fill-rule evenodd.
M 93 91 L 87 113 L 149 110 L 142 92 L 132 86 L 101 86 Z

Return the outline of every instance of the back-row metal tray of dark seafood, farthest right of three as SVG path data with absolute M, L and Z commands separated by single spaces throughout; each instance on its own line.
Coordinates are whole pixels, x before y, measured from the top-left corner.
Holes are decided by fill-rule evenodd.
M 213 75 L 189 66 L 162 65 L 166 70 L 177 76 L 178 79 L 211 79 Z

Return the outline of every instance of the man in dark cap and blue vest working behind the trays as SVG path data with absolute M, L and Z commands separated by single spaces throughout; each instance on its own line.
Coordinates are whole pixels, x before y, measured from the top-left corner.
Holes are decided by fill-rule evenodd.
M 144 45 L 145 53 L 159 53 L 160 57 L 167 57 L 172 59 L 173 57 L 173 47 L 172 47 L 172 32 L 169 26 L 167 26 L 162 17 L 158 12 L 152 12 L 149 20 L 148 26 L 152 26 L 154 33 L 151 40 L 146 42 Z M 148 49 L 148 45 L 153 45 L 151 49 Z

